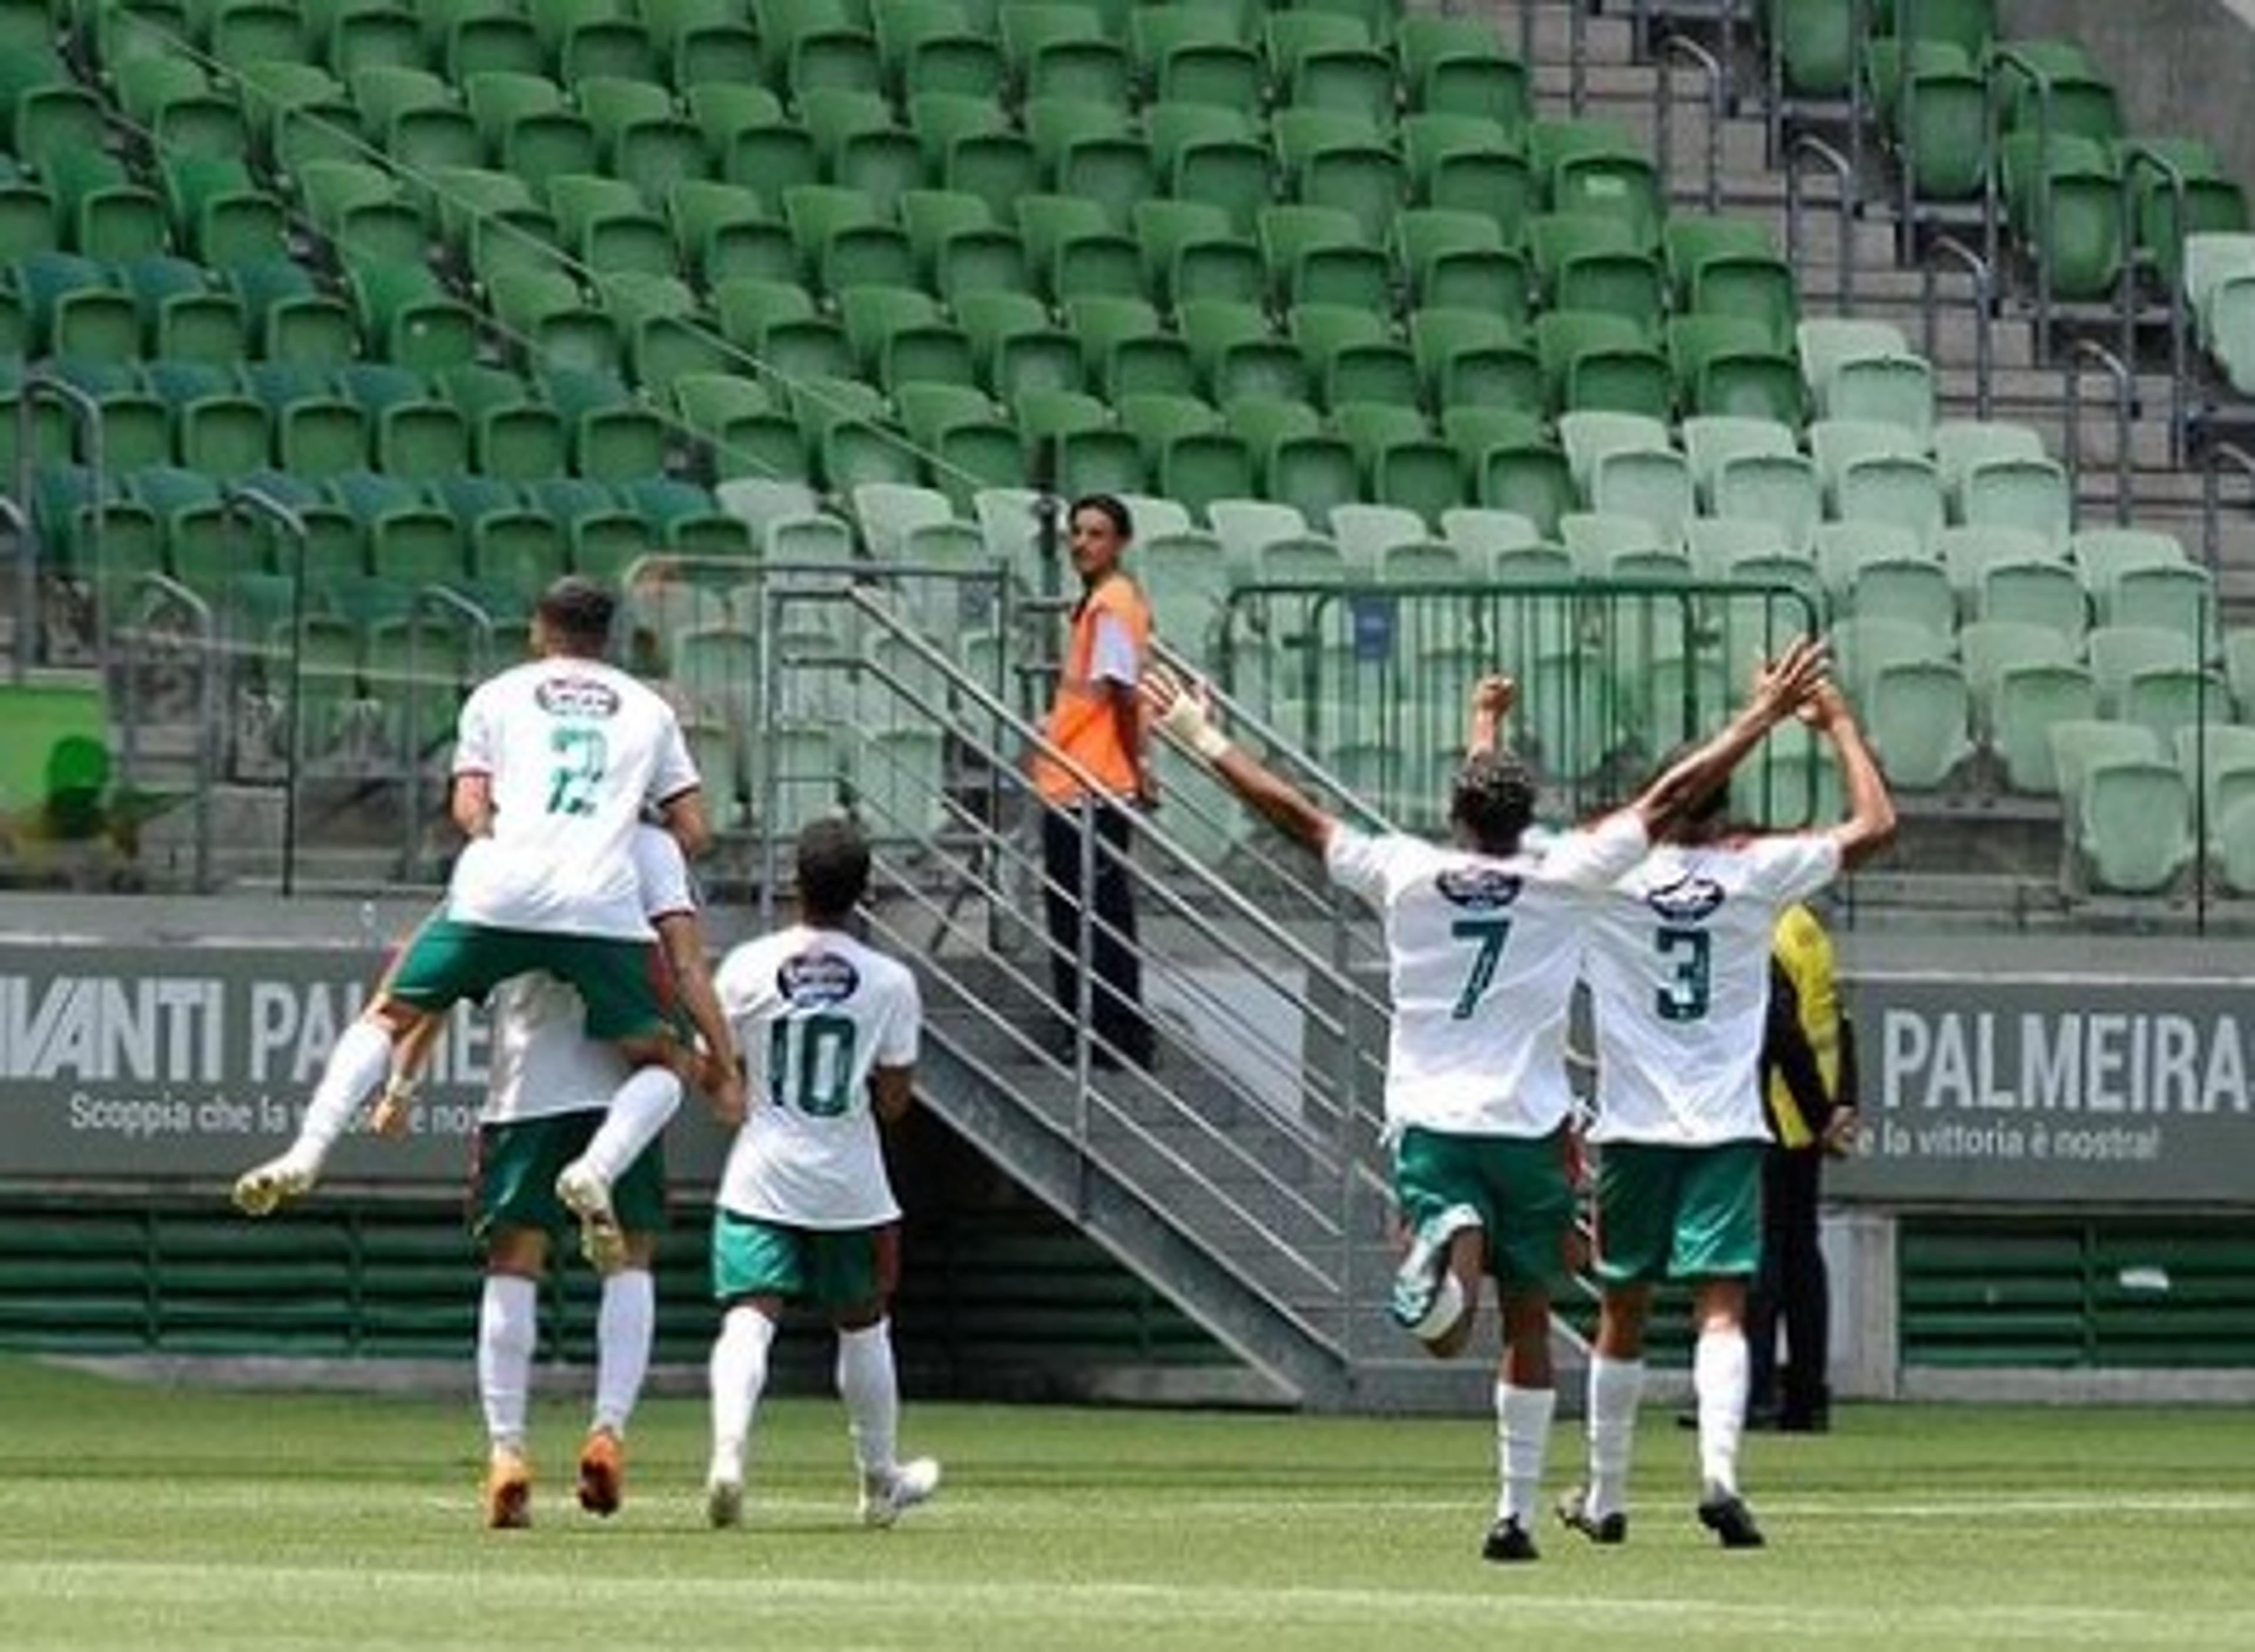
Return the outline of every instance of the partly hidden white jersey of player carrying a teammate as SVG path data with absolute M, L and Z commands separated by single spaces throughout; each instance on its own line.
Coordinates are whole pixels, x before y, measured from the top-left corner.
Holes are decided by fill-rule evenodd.
M 649 922 L 697 911 L 688 861 L 670 832 L 636 827 L 629 852 Z M 480 1125 L 609 1107 L 627 1082 L 625 1057 L 611 1043 L 586 1037 L 586 1005 L 573 985 L 546 974 L 503 980 L 494 989 L 492 1014 L 494 1048 Z

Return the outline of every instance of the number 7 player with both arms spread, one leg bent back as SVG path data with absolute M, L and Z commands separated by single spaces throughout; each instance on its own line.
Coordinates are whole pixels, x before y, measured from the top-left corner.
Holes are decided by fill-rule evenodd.
M 1457 773 L 1448 809 L 1454 845 L 1367 836 L 1231 746 L 1195 694 L 1164 674 L 1148 678 L 1159 728 L 1211 762 L 1285 836 L 1321 854 L 1330 879 L 1385 922 L 1394 1005 L 1385 1140 L 1409 1231 L 1391 1307 L 1430 1352 L 1454 1355 L 1473 1334 L 1482 1276 L 1495 1280 L 1502 1487 L 1482 1544 L 1488 1560 L 1536 1557 L 1531 1526 L 1556 1406 L 1549 1291 L 1567 1271 L 1572 1226 L 1565 1019 L 1590 906 L 1644 859 L 1655 827 L 1725 782 L 1793 712 L 1820 660 L 1815 645 L 1795 645 L 1714 741 L 1619 814 L 1540 847 L 1522 843 L 1533 780 L 1506 753 L 1475 750 Z M 1482 683 L 1477 723 L 1500 721 L 1511 699 L 1509 678 Z

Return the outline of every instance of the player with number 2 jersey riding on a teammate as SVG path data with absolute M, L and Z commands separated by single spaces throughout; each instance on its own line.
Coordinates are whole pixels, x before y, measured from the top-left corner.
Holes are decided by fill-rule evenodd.
M 602 660 L 613 611 L 602 586 L 559 579 L 532 615 L 539 658 L 480 683 L 462 705 L 453 818 L 469 843 L 446 906 L 338 1037 L 298 1140 L 237 1179 L 241 1210 L 266 1215 L 313 1185 L 329 1147 L 395 1068 L 395 1043 L 426 1039 L 417 1028 L 458 998 L 483 998 L 532 969 L 568 980 L 586 1005 L 586 1034 L 618 1046 L 634 1068 L 611 1107 L 663 1122 L 681 1104 L 683 1053 L 658 1001 L 629 843 L 645 809 L 686 854 L 708 832 L 672 708 Z M 616 1226 L 609 1185 L 584 1163 L 564 1170 L 557 1192 L 591 1231 Z

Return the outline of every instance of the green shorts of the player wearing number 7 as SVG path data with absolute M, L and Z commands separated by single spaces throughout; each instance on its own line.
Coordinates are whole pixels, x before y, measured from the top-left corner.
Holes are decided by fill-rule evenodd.
M 1565 1176 L 1565 1131 L 1549 1136 L 1457 1136 L 1407 1127 L 1394 1147 L 1394 1199 L 1409 1231 L 1450 1206 L 1470 1206 L 1488 1237 L 1486 1269 L 1504 1285 L 1558 1285 L 1574 1188 Z

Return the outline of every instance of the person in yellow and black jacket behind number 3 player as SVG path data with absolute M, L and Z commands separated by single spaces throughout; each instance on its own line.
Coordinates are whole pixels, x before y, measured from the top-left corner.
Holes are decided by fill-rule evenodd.
M 1824 1355 L 1831 1285 L 1818 1244 L 1824 1158 L 1856 1140 L 1856 1037 L 1840 1007 L 1833 947 L 1809 906 L 1790 906 L 1770 940 L 1763 1034 L 1770 1152 L 1761 1167 L 1761 1273 L 1745 1305 L 1748 1427 L 1822 1433 L 1831 1427 Z M 1777 1323 L 1790 1359 L 1777 1361 Z

